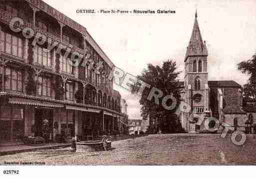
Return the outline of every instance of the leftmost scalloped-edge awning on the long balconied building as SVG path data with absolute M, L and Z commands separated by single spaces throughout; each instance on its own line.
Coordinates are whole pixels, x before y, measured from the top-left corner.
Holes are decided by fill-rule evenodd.
M 40 107 L 48 107 L 48 108 L 63 108 L 64 107 L 61 104 L 55 104 L 55 103 L 50 103 L 50 102 L 45 102 L 45 101 L 22 99 L 22 98 L 10 98 L 9 104 L 40 106 Z

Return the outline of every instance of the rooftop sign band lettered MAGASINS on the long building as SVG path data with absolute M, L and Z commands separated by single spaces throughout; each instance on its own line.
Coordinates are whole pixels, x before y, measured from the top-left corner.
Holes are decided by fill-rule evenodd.
M 66 25 L 70 26 L 71 28 L 74 28 L 75 30 L 79 31 L 80 33 L 86 35 L 86 28 L 83 27 L 82 25 L 76 23 L 74 20 L 68 18 L 65 16 L 63 13 L 59 12 L 58 10 L 54 9 L 47 3 L 45 3 L 42 0 L 26 0 L 30 4 L 34 5 L 38 9 L 50 14 L 57 20 L 65 23 Z

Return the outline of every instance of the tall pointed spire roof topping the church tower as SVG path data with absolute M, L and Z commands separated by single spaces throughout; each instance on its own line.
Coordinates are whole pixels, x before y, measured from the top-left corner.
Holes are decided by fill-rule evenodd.
M 197 21 L 197 11 L 195 14 L 194 26 L 193 26 L 192 35 L 189 41 L 189 46 L 187 48 L 185 60 L 187 59 L 188 56 L 195 56 L 195 55 L 208 56 L 206 44 L 203 42 L 198 21 Z

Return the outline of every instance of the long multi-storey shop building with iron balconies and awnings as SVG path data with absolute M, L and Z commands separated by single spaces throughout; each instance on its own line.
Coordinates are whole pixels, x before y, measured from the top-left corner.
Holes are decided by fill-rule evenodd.
M 14 21 L 13 30 L 14 17 L 22 23 Z M 42 38 L 33 43 L 38 32 L 44 43 Z M 71 60 L 74 53 L 82 57 L 79 65 Z M 85 63 L 87 55 L 91 61 Z M 49 141 L 62 134 L 122 133 L 128 121 L 121 95 L 108 79 L 114 67 L 85 27 L 42 0 L 1 0 L 0 141 L 22 142 L 45 133 Z

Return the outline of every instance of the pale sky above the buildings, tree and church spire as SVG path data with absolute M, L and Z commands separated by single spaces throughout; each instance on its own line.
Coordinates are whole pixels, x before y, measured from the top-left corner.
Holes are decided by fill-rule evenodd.
M 208 80 L 248 76 L 237 64 L 256 52 L 256 0 L 44 0 L 86 27 L 116 67 L 134 76 L 148 63 L 176 61 L 184 77 L 184 57 L 197 8 L 198 22 L 208 48 Z M 76 13 L 77 9 L 175 10 L 175 14 Z M 117 85 L 128 104 L 130 119 L 141 119 L 139 97 Z

